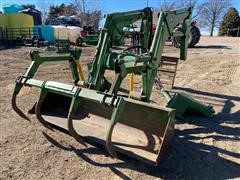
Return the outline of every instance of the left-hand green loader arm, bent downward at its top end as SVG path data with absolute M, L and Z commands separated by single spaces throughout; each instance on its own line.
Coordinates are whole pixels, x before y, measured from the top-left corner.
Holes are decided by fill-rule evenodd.
M 104 73 L 107 67 L 107 59 L 112 56 L 112 48 L 119 36 L 124 36 L 123 27 L 129 26 L 137 20 L 142 20 L 141 43 L 148 48 L 152 36 L 152 11 L 150 8 L 143 10 L 129 11 L 123 13 L 107 14 L 105 24 L 100 34 L 97 52 L 91 64 L 88 83 L 95 90 L 102 90 L 104 86 L 101 83 L 104 79 Z M 114 59 L 110 61 L 113 62 Z M 110 62 L 111 63 L 111 62 Z

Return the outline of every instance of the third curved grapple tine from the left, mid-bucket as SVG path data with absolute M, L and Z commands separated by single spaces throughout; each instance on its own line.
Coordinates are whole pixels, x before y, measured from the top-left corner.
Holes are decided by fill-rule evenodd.
M 73 97 L 70 108 L 69 108 L 69 112 L 68 112 L 68 131 L 70 135 L 74 137 L 74 139 L 76 139 L 80 144 L 87 147 L 82 136 L 80 136 L 73 127 L 73 115 L 76 112 L 77 108 L 78 108 L 78 101 L 76 101 L 76 98 Z

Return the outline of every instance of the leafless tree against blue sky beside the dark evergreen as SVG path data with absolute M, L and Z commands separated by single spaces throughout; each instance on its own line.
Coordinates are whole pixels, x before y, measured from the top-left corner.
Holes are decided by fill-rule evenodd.
M 210 36 L 213 36 L 214 28 L 219 27 L 230 5 L 230 0 L 204 0 L 200 7 L 200 23 L 210 29 Z

